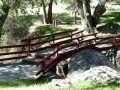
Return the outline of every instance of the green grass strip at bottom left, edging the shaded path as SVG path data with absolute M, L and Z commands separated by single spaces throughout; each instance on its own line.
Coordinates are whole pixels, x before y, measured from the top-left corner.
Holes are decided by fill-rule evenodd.
M 20 80 L 7 80 L 7 81 L 0 81 L 0 90 L 16 90 L 20 88 L 32 88 L 31 90 L 35 90 L 33 88 L 41 87 L 51 80 L 41 79 L 36 81 L 35 79 L 20 79 Z M 10 89 L 12 88 L 12 89 Z M 21 89 L 22 90 L 22 89 Z

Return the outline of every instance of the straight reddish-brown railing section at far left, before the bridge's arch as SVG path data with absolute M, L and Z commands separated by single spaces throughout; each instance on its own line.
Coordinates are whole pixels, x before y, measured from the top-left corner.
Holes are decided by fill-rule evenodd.
M 26 45 L 12 45 L 12 46 L 0 46 L 0 61 L 18 60 L 25 58 L 27 50 L 23 47 Z

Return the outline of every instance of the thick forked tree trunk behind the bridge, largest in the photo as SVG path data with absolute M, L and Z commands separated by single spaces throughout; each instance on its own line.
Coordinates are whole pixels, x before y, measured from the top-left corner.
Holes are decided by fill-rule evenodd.
M 105 3 L 106 1 L 100 0 L 97 7 L 95 8 L 93 16 L 91 15 L 90 10 L 90 0 L 75 0 L 78 12 L 81 16 L 81 25 L 79 30 L 86 30 L 91 32 L 93 27 L 96 27 L 98 21 L 102 14 L 106 11 Z

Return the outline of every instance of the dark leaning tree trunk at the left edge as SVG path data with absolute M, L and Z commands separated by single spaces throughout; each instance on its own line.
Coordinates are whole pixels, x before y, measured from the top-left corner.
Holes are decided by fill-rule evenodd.
M 2 35 L 2 27 L 9 13 L 9 6 L 4 6 L 2 8 L 3 14 L 0 16 L 0 38 Z

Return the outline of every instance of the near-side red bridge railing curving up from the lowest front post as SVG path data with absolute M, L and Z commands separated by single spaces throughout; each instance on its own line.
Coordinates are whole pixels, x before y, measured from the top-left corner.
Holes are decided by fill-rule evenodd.
M 41 67 L 42 67 L 42 69 L 40 71 L 38 71 L 36 73 L 36 75 L 39 75 L 42 73 L 41 76 L 44 76 L 45 73 L 52 68 L 52 65 L 55 65 L 57 62 L 59 62 L 59 60 L 67 59 L 72 54 L 74 54 L 78 51 L 81 51 L 81 50 L 87 49 L 87 48 L 94 49 L 95 44 L 90 44 L 90 45 L 86 45 L 86 46 L 85 45 L 82 46 L 82 44 L 86 44 L 87 42 L 91 42 L 91 41 L 94 41 L 96 43 L 96 34 L 98 34 L 98 33 L 82 35 L 82 36 L 70 38 L 67 40 L 63 40 L 63 41 L 55 42 L 55 43 L 51 44 L 51 46 L 55 46 L 55 51 L 36 64 L 37 66 L 41 65 Z M 84 40 L 84 41 L 81 40 L 83 37 L 85 38 L 88 36 L 94 36 L 94 37 L 89 40 Z M 65 44 L 65 45 L 61 46 L 63 44 Z M 69 47 L 72 47 L 72 48 L 69 48 Z M 67 50 L 67 48 L 70 50 Z M 65 49 L 66 51 L 59 53 L 62 49 Z M 63 56 L 61 56 L 61 55 L 63 55 Z M 56 60 L 56 58 L 58 58 L 58 57 L 59 57 L 59 60 L 58 59 Z M 53 60 L 51 60 L 52 62 L 50 62 L 48 65 L 46 65 L 45 62 L 46 62 L 46 60 L 49 60 L 49 58 L 53 58 Z

